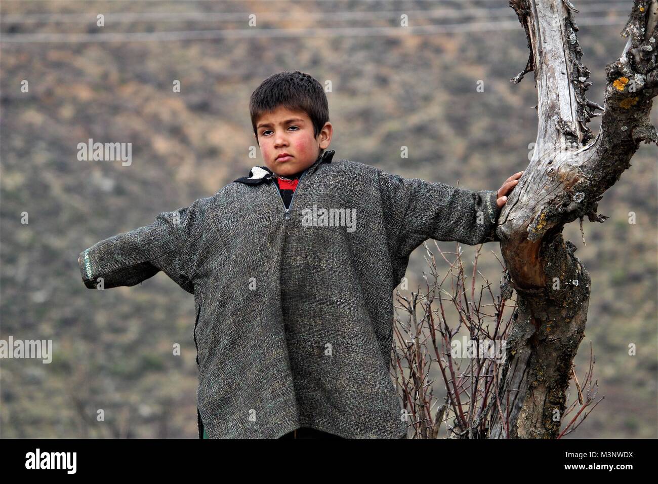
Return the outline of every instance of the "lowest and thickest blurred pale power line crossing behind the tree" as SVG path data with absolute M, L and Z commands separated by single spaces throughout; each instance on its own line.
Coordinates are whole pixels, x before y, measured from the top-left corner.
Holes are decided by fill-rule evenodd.
M 584 17 L 576 20 L 580 26 L 623 26 L 621 17 Z M 462 24 L 424 25 L 415 27 L 332 27 L 332 28 L 247 28 L 226 30 L 195 30 L 171 32 L 108 32 L 101 34 L 3 34 L 0 43 L 40 42 L 132 42 L 132 41 L 181 41 L 214 40 L 232 38 L 299 38 L 299 37 L 368 37 L 368 36 L 415 36 L 461 32 L 490 32 L 522 28 L 518 20 L 503 22 L 465 22 Z

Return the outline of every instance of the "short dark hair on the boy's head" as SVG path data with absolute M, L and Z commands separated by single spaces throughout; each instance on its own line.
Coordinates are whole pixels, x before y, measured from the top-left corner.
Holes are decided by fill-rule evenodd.
M 306 113 L 313 122 L 313 136 L 318 136 L 324 123 L 329 121 L 327 97 L 315 78 L 299 70 L 278 72 L 261 82 L 249 99 L 249 114 L 256 140 L 258 140 L 256 123 L 259 117 L 266 111 L 274 111 L 279 106 Z

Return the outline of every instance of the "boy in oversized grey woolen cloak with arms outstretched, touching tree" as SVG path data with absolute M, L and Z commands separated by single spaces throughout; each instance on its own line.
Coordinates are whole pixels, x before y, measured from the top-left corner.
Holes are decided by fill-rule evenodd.
M 326 95 L 299 71 L 267 78 L 249 109 L 266 166 L 84 250 L 82 280 L 164 271 L 194 294 L 199 437 L 402 438 L 393 290 L 428 238 L 498 240 L 522 172 L 472 192 L 333 161 Z

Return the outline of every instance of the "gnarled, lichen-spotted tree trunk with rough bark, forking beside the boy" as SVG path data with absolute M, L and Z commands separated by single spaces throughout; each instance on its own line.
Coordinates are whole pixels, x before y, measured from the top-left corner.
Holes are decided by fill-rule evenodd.
M 607 65 L 603 107 L 588 101 L 569 0 L 511 0 L 526 30 L 534 71 L 538 133 L 534 156 L 500 215 L 497 234 L 507 266 L 501 289 L 517 291 L 513 329 L 498 397 L 476 438 L 555 438 L 565 410 L 571 365 L 584 336 L 590 276 L 563 240 L 565 224 L 603 222 L 597 202 L 630 167 L 640 142 L 658 144 L 649 122 L 658 94 L 658 0 L 635 0 L 621 35 L 620 58 Z M 595 113 L 596 110 L 602 111 Z M 601 116 L 594 137 L 586 124 Z M 499 402 L 499 403 L 497 403 Z M 484 420 L 483 420 L 484 419 Z M 478 423 L 479 425 L 479 423 Z

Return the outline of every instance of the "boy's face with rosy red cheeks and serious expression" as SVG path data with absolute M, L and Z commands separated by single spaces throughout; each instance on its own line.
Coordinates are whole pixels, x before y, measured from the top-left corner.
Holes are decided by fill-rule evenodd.
M 291 176 L 313 165 L 320 149 L 328 148 L 332 130 L 327 121 L 318 136 L 313 136 L 313 122 L 306 113 L 280 106 L 261 115 L 254 137 L 265 165 L 278 176 Z M 282 153 L 289 156 L 281 157 Z

